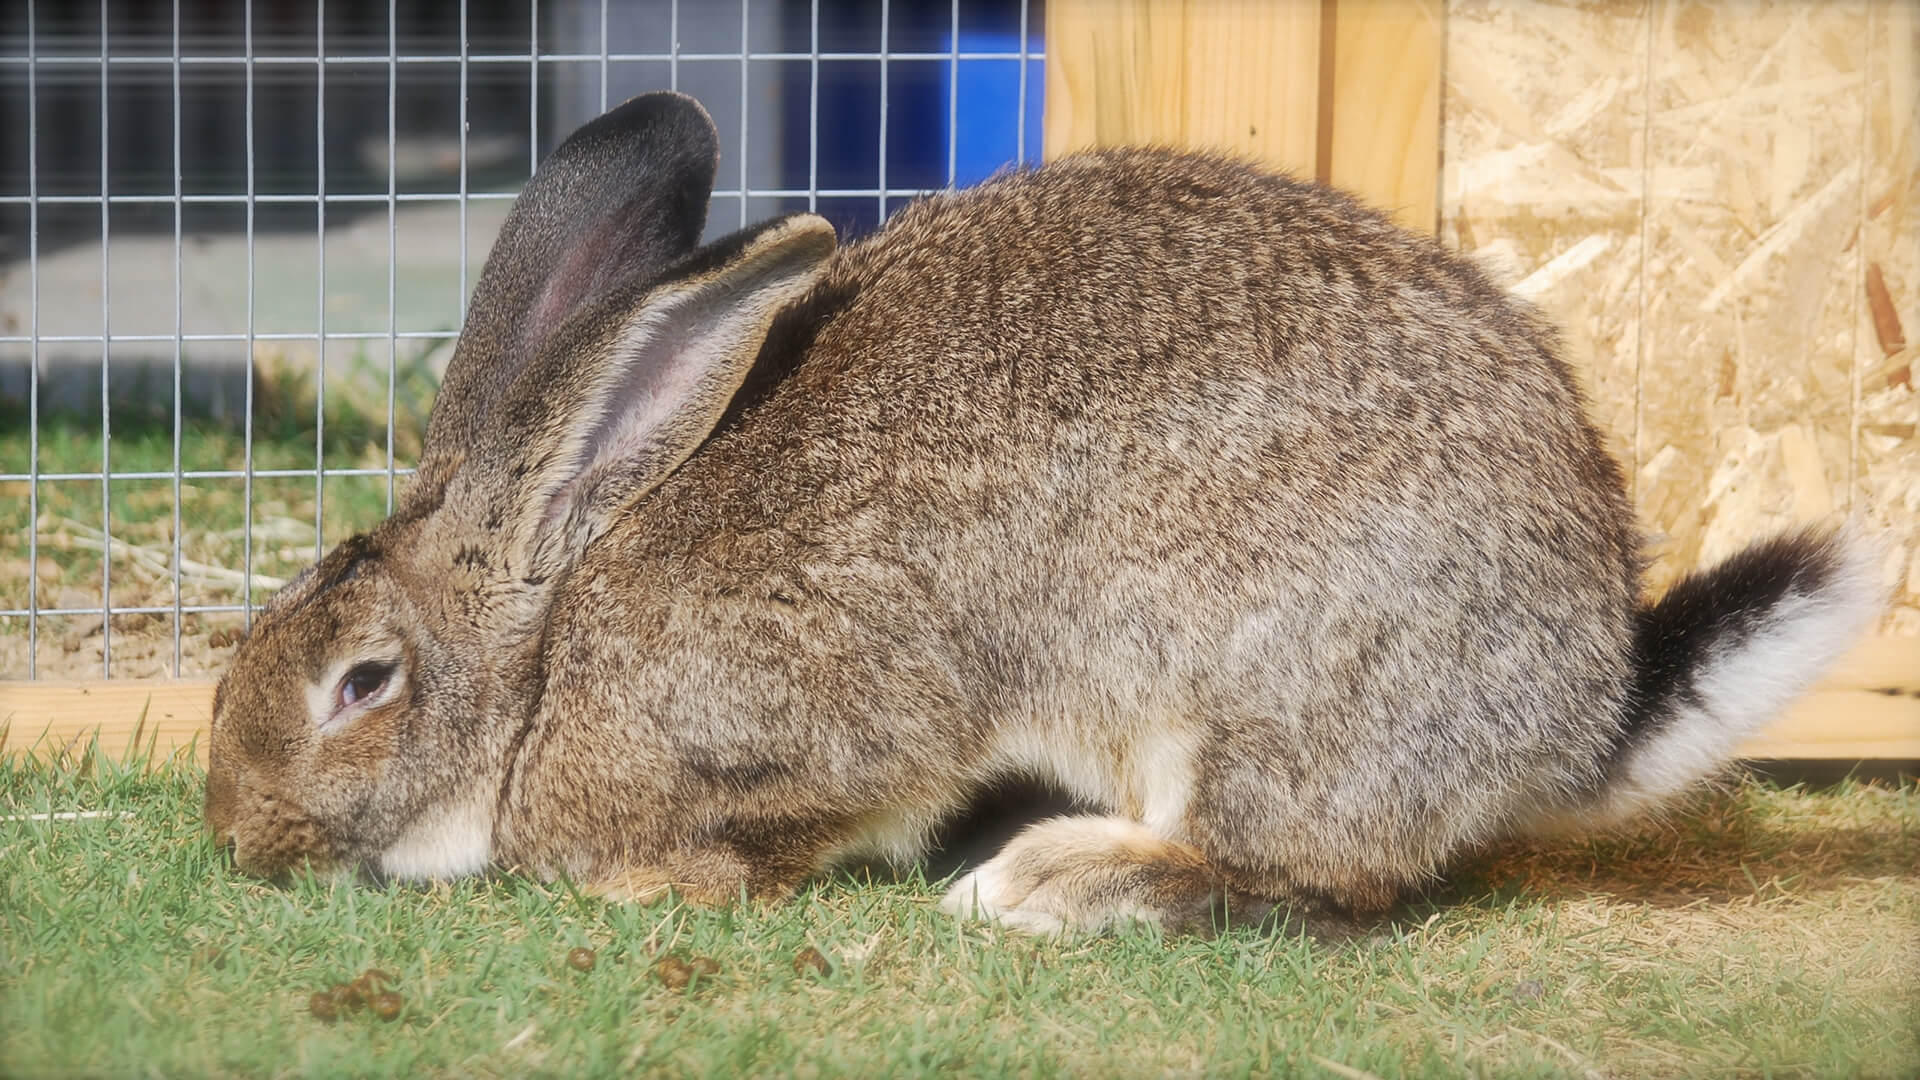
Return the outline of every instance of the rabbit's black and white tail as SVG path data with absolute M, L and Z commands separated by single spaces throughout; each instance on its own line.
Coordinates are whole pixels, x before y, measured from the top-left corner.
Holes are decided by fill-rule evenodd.
M 1580 824 L 1626 819 L 1724 767 L 1880 615 L 1876 555 L 1851 528 L 1789 532 L 1644 607 L 1628 711 Z

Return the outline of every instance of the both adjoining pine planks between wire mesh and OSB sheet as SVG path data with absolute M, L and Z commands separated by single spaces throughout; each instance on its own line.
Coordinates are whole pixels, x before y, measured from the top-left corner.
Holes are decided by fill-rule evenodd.
M 1440 23 L 1440 0 L 1054 0 L 1046 156 L 1219 150 L 1432 233 Z

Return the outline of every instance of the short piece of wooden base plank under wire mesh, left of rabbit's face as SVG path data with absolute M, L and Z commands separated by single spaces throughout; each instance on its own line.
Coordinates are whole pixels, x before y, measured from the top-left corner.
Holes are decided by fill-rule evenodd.
M 119 678 L 98 682 L 0 682 L 0 755 L 56 759 L 79 753 L 98 734 L 100 751 L 125 759 L 150 749 L 156 759 L 192 748 L 207 763 L 213 682 L 202 678 Z

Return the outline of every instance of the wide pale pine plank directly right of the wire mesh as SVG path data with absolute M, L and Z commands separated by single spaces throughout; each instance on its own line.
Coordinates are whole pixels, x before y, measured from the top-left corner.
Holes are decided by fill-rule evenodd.
M 1319 0 L 1052 0 L 1046 156 L 1177 146 L 1315 175 Z

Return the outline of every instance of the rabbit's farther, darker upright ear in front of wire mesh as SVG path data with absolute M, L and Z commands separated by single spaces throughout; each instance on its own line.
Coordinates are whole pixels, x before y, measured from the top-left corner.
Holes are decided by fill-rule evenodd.
M 540 163 L 474 286 L 409 494 L 445 482 L 570 315 L 699 244 L 718 161 L 707 110 L 657 92 L 589 121 Z

